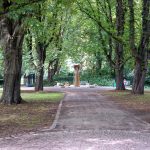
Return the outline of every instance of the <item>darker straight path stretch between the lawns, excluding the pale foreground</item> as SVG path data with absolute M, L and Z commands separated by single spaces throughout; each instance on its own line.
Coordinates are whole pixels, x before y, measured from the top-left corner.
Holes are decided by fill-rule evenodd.
M 61 108 L 57 130 L 147 131 L 148 124 L 96 92 L 68 92 Z

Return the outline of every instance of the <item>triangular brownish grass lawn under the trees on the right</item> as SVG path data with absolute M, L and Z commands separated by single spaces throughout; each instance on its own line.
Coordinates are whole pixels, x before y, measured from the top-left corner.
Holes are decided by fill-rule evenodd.
M 126 109 L 142 120 L 150 123 L 150 92 L 144 95 L 133 95 L 131 91 L 104 91 L 102 95 L 108 96 L 121 108 Z

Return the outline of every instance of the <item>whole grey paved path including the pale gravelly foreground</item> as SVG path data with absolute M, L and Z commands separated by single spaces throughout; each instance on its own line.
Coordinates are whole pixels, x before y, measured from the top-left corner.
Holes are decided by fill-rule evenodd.
M 150 150 L 149 124 L 121 110 L 99 90 L 61 89 L 66 96 L 54 129 L 0 139 L 0 149 Z

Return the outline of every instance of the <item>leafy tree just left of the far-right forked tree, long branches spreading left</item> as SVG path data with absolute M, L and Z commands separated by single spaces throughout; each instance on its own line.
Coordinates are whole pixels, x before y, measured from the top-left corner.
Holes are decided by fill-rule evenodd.
M 115 8 L 116 5 L 116 8 Z M 116 70 L 116 89 L 125 90 L 124 86 L 124 26 L 126 5 L 123 0 L 78 2 L 79 9 L 93 20 L 99 30 L 100 42 L 104 54 Z M 115 17 L 115 19 L 113 18 Z M 107 34 L 107 36 L 104 34 Z M 107 41 L 107 42 L 106 42 Z M 115 59 L 112 59 L 112 55 Z

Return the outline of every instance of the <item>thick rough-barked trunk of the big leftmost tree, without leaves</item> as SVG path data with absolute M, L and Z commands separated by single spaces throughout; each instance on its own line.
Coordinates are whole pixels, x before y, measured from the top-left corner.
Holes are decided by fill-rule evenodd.
M 8 18 L 2 19 L 0 25 L 2 29 L 1 38 L 3 38 L 1 44 L 4 50 L 4 85 L 1 102 L 19 104 L 22 100 L 20 81 L 24 32 L 19 23 Z

